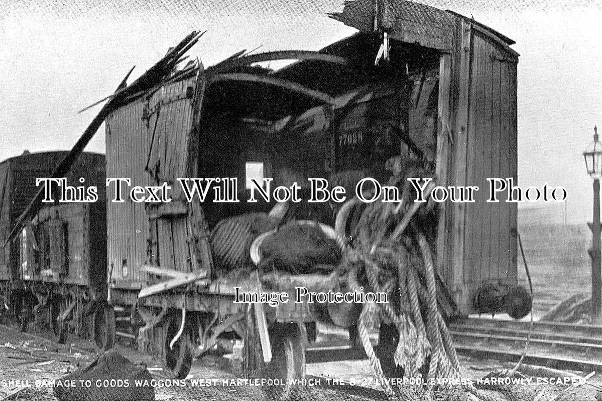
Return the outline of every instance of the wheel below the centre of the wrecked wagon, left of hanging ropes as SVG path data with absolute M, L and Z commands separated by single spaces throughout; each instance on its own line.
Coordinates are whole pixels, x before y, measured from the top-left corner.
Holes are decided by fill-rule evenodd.
M 265 369 L 268 379 L 275 379 L 274 385 L 264 390 L 275 400 L 294 400 L 303 391 L 303 385 L 293 381 L 305 379 L 305 347 L 299 327 L 295 324 L 276 325 L 270 331 L 272 361 Z

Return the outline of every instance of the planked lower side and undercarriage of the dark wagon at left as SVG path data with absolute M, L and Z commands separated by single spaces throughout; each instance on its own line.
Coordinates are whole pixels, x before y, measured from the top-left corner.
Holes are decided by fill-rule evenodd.
M 21 231 L 23 286 L 32 297 L 37 323 L 47 323 L 55 340 L 69 332 L 93 332 L 95 313 L 104 314 L 107 299 L 107 246 L 104 187 L 98 203 L 66 203 L 43 207 Z M 104 317 L 102 318 L 104 319 Z M 105 348 L 106 339 L 98 345 Z M 113 338 L 111 337 L 111 342 Z

